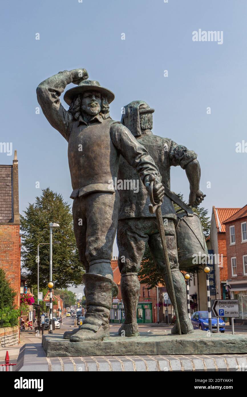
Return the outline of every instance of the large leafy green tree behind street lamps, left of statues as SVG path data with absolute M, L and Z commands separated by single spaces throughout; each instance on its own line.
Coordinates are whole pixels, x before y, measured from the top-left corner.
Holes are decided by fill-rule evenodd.
M 60 194 L 49 188 L 42 190 L 41 197 L 36 197 L 33 204 L 29 203 L 27 210 L 21 216 L 21 258 L 23 274 L 28 285 L 37 283 L 37 247 L 38 243 L 49 243 L 49 223 L 56 222 L 60 227 L 54 228 L 52 273 L 56 288 L 66 288 L 69 285 L 80 285 L 84 269 L 79 261 L 73 232 L 73 217 L 69 204 L 63 201 Z M 40 245 L 40 288 L 47 287 L 49 281 L 49 245 Z

